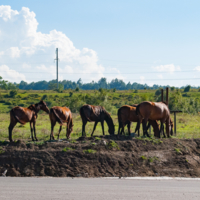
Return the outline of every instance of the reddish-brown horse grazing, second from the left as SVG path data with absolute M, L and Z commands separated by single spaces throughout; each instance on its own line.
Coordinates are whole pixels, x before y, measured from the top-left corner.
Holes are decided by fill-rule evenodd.
M 72 113 L 69 108 L 67 107 L 59 107 L 54 106 L 50 109 L 49 118 L 51 121 L 51 134 L 50 134 L 50 140 L 54 140 L 54 134 L 53 129 L 56 125 L 56 122 L 60 124 L 60 129 L 58 132 L 58 139 L 60 132 L 62 130 L 63 123 L 67 123 L 66 127 L 66 137 L 69 139 L 71 132 L 73 131 L 73 121 L 72 121 Z

